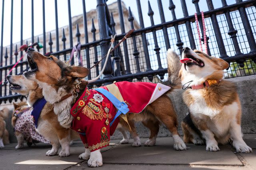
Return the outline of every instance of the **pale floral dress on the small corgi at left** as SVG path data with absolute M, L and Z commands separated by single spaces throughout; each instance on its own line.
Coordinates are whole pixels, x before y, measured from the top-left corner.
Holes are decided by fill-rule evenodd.
M 20 115 L 20 117 L 18 117 L 18 119 L 16 119 L 14 130 L 20 131 L 27 142 L 32 142 L 32 139 L 34 139 L 42 143 L 50 144 L 51 142 L 45 139 L 36 130 L 33 117 L 31 116 L 32 110 L 33 109 L 29 109 L 28 111 L 25 111 Z

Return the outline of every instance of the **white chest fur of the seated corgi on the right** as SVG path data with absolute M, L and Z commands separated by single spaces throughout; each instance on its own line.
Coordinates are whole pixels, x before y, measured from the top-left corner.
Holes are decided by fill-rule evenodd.
M 194 99 L 194 103 L 189 107 L 190 113 L 199 119 L 208 116 L 210 121 L 205 121 L 205 123 L 217 137 L 227 134 L 230 123 L 236 121 L 236 114 L 239 109 L 238 103 L 233 102 L 221 109 L 212 109 L 207 106 L 205 99 L 196 90 L 192 90 L 190 94 Z

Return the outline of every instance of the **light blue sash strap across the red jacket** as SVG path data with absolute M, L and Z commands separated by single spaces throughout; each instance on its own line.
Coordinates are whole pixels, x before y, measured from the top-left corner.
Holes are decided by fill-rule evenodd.
M 104 88 L 96 88 L 94 89 L 97 92 L 100 92 L 101 94 L 103 94 L 104 96 L 106 96 L 106 98 L 108 98 L 108 100 L 110 100 L 110 102 L 112 102 L 112 104 L 116 107 L 116 109 L 118 110 L 116 112 L 116 115 L 114 116 L 114 119 L 110 122 L 110 126 L 114 123 L 114 121 L 116 120 L 116 118 L 120 115 L 120 114 L 126 114 L 128 113 L 129 109 L 128 109 L 128 105 L 124 102 L 120 102 L 120 100 L 118 100 L 113 94 L 111 94 L 108 90 L 105 90 Z

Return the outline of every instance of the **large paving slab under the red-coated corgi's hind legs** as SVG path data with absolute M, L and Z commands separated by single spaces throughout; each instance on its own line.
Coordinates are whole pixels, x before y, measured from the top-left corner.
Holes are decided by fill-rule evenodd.
M 144 143 L 146 139 L 143 139 Z M 228 145 L 220 146 L 220 151 L 206 151 L 206 146 L 188 144 L 190 149 L 176 151 L 170 137 L 158 138 L 154 147 L 132 147 L 132 144 L 119 144 L 102 154 L 104 163 L 121 164 L 208 164 L 242 165 Z

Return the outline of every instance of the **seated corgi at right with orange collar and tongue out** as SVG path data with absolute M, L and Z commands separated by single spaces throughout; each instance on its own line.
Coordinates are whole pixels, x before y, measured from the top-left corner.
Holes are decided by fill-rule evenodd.
M 183 49 L 180 62 L 179 77 L 186 89 L 183 100 L 189 110 L 182 121 L 184 142 L 202 145 L 205 141 L 206 150 L 218 151 L 218 143 L 231 139 L 237 152 L 252 152 L 242 139 L 236 85 L 223 79 L 229 64 L 188 47 Z

